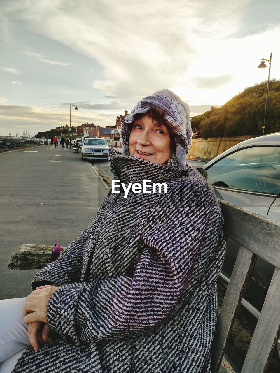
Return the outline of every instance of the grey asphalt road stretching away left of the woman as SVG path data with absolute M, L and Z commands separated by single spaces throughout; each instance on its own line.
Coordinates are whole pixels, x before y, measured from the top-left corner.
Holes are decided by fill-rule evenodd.
M 56 242 L 66 247 L 92 223 L 107 193 L 72 149 L 45 145 L 1 153 L 0 299 L 30 293 L 36 270 L 8 268 L 16 247 Z

